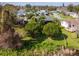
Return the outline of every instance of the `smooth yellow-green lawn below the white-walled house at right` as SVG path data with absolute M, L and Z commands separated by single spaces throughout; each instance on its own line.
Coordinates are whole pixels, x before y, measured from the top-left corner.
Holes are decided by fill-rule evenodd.
M 65 33 L 68 36 L 68 47 L 79 48 L 79 38 L 76 37 L 76 33 L 71 33 L 64 29 L 63 33 Z

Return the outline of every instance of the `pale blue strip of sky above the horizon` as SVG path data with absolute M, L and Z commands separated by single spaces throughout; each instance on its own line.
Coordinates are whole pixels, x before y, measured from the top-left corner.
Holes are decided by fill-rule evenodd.
M 26 4 L 31 4 L 32 6 L 62 6 L 63 3 L 65 6 L 69 5 L 69 4 L 73 4 L 73 5 L 78 5 L 79 2 L 6 2 L 9 4 L 14 4 L 14 5 L 18 5 L 18 6 L 25 6 Z M 4 3 L 4 4 L 6 4 Z

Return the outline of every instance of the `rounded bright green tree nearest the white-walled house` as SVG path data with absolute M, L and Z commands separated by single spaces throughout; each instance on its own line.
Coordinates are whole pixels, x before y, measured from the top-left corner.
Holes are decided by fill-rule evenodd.
M 56 23 L 47 23 L 42 32 L 48 37 L 55 37 L 61 34 L 61 28 Z

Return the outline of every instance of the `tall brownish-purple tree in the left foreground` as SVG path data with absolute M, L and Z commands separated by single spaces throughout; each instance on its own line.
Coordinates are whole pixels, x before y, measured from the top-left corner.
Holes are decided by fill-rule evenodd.
M 0 48 L 18 48 L 21 47 L 20 37 L 15 33 L 12 27 L 12 14 L 2 8 L 0 19 Z

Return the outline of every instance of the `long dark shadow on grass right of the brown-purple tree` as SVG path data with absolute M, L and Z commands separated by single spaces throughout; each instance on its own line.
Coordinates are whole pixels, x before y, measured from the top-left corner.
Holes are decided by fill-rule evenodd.
M 33 48 L 36 44 L 41 43 L 44 41 L 47 37 L 45 35 L 41 35 L 40 37 L 35 37 L 31 40 L 22 40 L 23 47 L 21 49 L 31 49 Z

